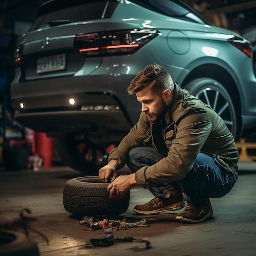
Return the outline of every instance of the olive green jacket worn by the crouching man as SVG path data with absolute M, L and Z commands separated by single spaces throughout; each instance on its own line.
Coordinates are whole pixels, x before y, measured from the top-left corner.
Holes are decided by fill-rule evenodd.
M 164 158 L 135 173 L 135 180 L 141 187 L 148 189 L 182 179 L 193 167 L 199 152 L 211 155 L 217 164 L 233 173 L 235 180 L 238 179 L 239 155 L 234 137 L 211 107 L 175 84 L 169 112 L 170 123 L 164 129 L 166 153 L 163 152 L 163 143 L 156 139 L 159 137 L 156 135 L 157 124 L 150 124 L 147 115 L 141 112 L 137 124 L 110 152 L 108 161 L 116 159 L 122 168 L 132 148 L 152 141 L 155 150 Z

